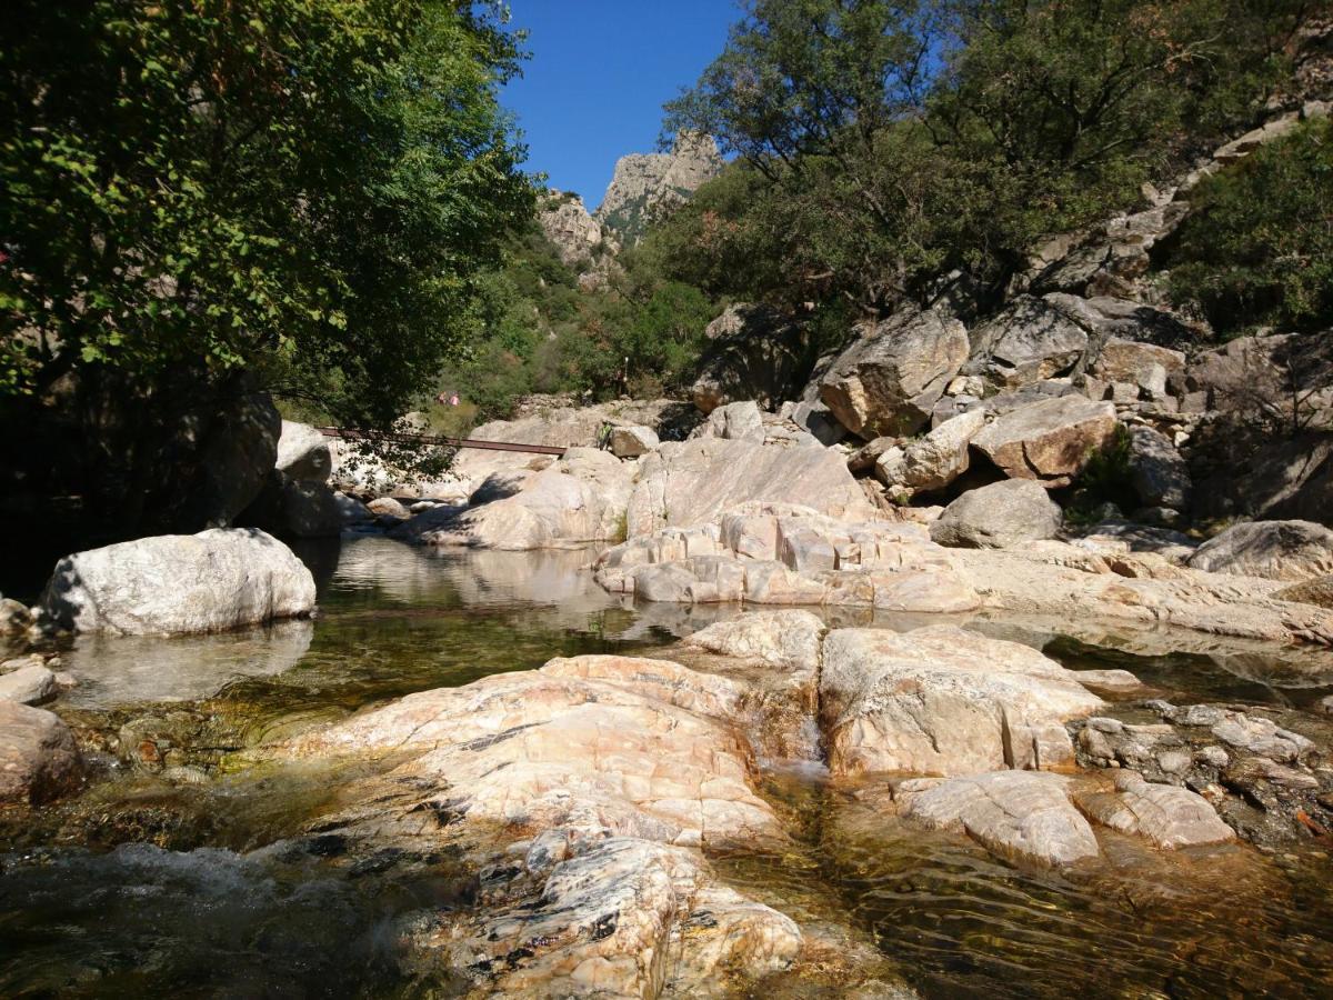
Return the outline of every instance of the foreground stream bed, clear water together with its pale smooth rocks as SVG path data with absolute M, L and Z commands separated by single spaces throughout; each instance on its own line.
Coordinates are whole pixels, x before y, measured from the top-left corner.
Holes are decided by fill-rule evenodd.
M 69 725 L 83 784 L 3 813 L 4 992 L 1333 975 L 1322 657 L 988 608 L 636 603 L 596 555 L 351 537 L 312 560 L 313 621 L 44 653 L 73 687 L 31 711 Z

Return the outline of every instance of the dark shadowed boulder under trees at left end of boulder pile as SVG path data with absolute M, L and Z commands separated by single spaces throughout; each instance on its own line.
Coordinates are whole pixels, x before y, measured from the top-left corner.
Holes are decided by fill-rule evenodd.
M 762 305 L 732 305 L 708 324 L 690 399 L 704 413 L 737 400 L 773 408 L 810 376 L 805 331 Z

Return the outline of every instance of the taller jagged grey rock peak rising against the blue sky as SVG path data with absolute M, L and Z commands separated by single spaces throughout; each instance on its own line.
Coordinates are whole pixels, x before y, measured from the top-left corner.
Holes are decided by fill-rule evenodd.
M 688 199 L 721 169 L 722 157 L 710 136 L 681 133 L 669 153 L 621 156 L 593 217 L 623 243 L 633 245 L 653 219 Z

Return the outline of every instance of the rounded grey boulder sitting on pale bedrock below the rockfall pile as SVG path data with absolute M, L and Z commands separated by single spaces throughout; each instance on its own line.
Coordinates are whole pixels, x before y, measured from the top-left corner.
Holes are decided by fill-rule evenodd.
M 1064 515 L 1037 483 L 1008 479 L 969 489 L 930 524 L 930 539 L 950 548 L 1009 548 L 1053 539 Z

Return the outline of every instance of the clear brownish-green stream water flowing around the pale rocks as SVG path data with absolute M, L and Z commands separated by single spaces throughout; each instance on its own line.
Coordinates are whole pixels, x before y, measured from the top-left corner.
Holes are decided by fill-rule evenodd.
M 65 652 L 80 687 L 57 709 L 85 744 L 109 751 L 121 727 L 171 727 L 180 760 L 167 763 L 195 779 L 113 767 L 108 752 L 81 796 L 0 815 L 0 996 L 464 992 L 401 972 L 393 924 L 467 905 L 467 872 L 449 859 L 349 863 L 304 831 L 360 775 L 229 771 L 228 755 L 557 655 L 656 651 L 736 613 L 635 607 L 592 583 L 589 552 L 432 555 L 372 536 L 303 555 L 321 577 L 313 623 Z M 1070 667 L 1125 667 L 1180 700 L 1300 708 L 1333 680 L 1326 663 L 1261 649 L 973 624 Z M 802 923 L 850 925 L 924 996 L 1333 993 L 1333 879 L 1318 851 L 1168 857 L 1108 839 L 1105 863 L 1056 875 L 902 828 L 817 768 L 769 773 L 762 792 L 789 817 L 794 849 L 718 857 L 721 872 Z

